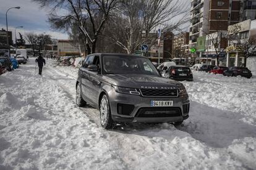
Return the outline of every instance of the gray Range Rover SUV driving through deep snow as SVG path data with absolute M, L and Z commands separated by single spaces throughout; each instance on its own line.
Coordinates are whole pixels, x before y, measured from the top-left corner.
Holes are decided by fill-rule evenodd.
M 181 124 L 189 117 L 189 96 L 182 83 L 162 78 L 146 57 L 91 54 L 79 69 L 76 103 L 100 110 L 100 123 Z

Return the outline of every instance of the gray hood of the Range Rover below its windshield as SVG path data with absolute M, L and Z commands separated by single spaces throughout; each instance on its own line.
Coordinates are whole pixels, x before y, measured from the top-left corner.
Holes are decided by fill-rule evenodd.
M 160 76 L 149 75 L 105 75 L 108 83 L 115 86 L 136 89 L 177 89 L 184 87 L 182 83 Z

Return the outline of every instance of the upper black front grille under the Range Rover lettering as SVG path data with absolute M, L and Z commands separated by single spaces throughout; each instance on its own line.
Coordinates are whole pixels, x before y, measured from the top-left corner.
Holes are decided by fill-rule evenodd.
M 140 89 L 144 97 L 177 97 L 177 89 Z

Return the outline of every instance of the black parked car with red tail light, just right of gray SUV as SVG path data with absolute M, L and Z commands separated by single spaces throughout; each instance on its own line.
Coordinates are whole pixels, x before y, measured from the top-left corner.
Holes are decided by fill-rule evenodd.
M 193 74 L 189 67 L 183 65 L 172 65 L 166 71 L 165 78 L 174 79 L 176 81 L 193 81 Z

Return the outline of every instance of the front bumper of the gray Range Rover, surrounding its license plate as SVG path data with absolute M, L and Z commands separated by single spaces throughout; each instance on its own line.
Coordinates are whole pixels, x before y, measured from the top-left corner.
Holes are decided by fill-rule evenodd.
M 111 115 L 117 123 L 179 122 L 189 117 L 188 97 L 142 97 L 108 92 Z M 173 100 L 172 107 L 151 107 L 151 100 Z M 120 109 L 120 105 L 128 106 Z M 124 110 L 122 113 L 121 110 Z

